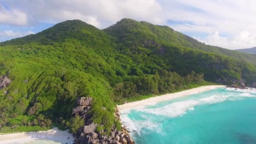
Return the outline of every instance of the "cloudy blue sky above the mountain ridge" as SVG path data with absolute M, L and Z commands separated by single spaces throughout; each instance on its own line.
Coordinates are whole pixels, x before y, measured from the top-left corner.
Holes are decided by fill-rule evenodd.
M 167 25 L 209 45 L 256 46 L 256 0 L 0 0 L 0 42 L 65 20 L 99 29 L 123 18 Z

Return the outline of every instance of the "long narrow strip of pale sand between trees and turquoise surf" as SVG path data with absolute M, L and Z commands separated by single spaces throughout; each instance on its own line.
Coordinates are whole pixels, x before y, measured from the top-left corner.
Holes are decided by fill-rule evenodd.
M 120 111 L 126 111 L 126 110 L 130 110 L 130 109 L 134 109 L 136 107 L 145 107 L 147 105 L 152 105 L 152 104 L 156 104 L 160 101 L 168 101 L 174 98 L 178 98 L 181 96 L 186 96 L 186 95 L 190 95 L 190 94 L 195 94 L 195 93 L 201 93 L 203 91 L 208 91 L 208 90 L 212 90 L 215 88 L 224 88 L 226 87 L 225 85 L 206 85 L 206 86 L 201 86 L 198 88 L 192 88 L 189 90 L 185 90 L 185 91 L 180 91 L 177 93 L 169 93 L 169 94 L 165 94 L 162 96 L 155 96 L 155 97 L 151 97 L 149 99 L 143 99 L 141 101 L 133 101 L 133 102 L 129 102 L 123 105 L 117 105 L 117 108 Z

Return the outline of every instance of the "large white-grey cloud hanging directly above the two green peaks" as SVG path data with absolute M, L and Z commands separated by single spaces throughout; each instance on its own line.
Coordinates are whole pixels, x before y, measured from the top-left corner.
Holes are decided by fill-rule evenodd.
M 60 22 L 81 19 L 105 28 L 123 18 L 162 24 L 161 5 L 156 0 L 5 0 L 36 21 Z

